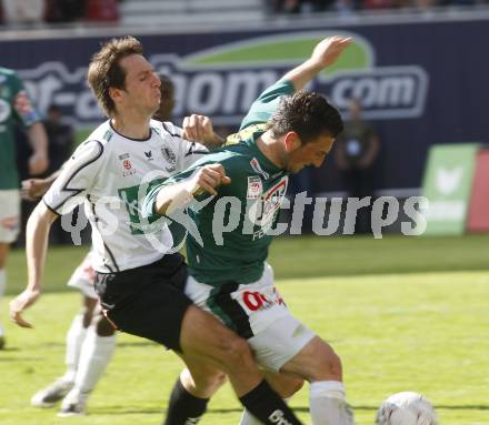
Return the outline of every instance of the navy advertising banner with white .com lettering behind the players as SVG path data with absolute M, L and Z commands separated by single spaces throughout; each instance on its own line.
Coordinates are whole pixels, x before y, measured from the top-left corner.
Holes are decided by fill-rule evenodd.
M 378 189 L 419 188 L 431 143 L 486 141 L 489 55 L 467 49 L 489 38 L 485 20 L 132 36 L 154 68 L 172 78 L 177 123 L 200 113 L 232 131 L 267 85 L 308 58 L 318 40 L 338 33 L 353 37 L 353 44 L 309 89 L 326 94 L 346 119 L 349 99 L 361 100 L 381 142 Z M 91 128 L 103 118 L 86 82 L 87 67 L 108 38 L 0 41 L 2 65 L 20 71 L 41 112 L 56 103 L 77 129 Z M 333 165 L 330 158 L 313 170 L 313 190 L 342 189 Z

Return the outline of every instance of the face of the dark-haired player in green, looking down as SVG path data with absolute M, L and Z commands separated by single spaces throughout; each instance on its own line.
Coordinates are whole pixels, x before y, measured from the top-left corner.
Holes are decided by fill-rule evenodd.
M 309 143 L 299 144 L 299 148 L 288 153 L 287 171 L 298 173 L 308 165 L 321 166 L 333 143 L 335 138 L 325 134 Z

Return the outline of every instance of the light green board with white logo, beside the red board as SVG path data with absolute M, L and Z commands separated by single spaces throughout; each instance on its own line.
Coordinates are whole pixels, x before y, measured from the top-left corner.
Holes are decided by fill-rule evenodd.
M 476 143 L 430 149 L 423 181 L 423 195 L 429 201 L 426 234 L 463 233 L 478 150 Z

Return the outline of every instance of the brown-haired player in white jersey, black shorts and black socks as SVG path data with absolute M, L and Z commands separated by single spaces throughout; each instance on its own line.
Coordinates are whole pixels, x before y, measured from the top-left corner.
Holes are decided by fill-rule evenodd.
M 29 279 L 10 304 L 11 318 L 30 326 L 22 312 L 40 294 L 49 229 L 82 201 L 92 227 L 96 290 L 109 321 L 176 351 L 190 366 L 218 366 L 262 423 L 280 417 L 300 424 L 263 380 L 247 342 L 183 294 L 187 265 L 171 251 L 168 226 L 141 222 L 143 181 L 162 181 L 184 169 L 189 146 L 177 128 L 151 120 L 160 82 L 139 41 L 127 37 L 106 43 L 90 63 L 89 84 L 109 120 L 77 149 L 29 219 Z

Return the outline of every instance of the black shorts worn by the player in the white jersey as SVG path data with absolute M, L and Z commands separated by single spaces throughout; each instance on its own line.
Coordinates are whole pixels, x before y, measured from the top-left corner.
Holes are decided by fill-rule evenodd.
M 122 332 L 181 352 L 180 331 L 191 300 L 183 293 L 187 264 L 179 253 L 117 273 L 96 273 L 108 318 Z

